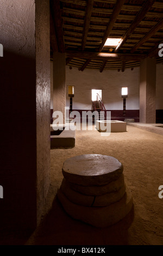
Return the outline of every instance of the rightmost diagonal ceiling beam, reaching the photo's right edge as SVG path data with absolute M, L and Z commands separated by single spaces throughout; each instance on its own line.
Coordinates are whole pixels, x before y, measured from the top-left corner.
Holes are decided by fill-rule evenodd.
M 161 19 L 161 21 L 157 25 L 155 25 L 147 35 L 145 35 L 139 42 L 137 42 L 137 44 L 133 48 L 131 48 L 130 52 L 131 53 L 135 52 L 137 48 L 139 48 L 142 44 L 148 41 L 148 39 L 151 38 L 162 27 L 163 27 L 163 19 Z

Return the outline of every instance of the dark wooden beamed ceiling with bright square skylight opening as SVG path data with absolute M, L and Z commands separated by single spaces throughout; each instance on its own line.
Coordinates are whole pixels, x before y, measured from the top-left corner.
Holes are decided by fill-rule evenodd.
M 158 56 L 158 45 L 163 38 L 161 0 L 49 1 L 51 52 L 65 52 L 66 65 L 103 72 L 139 66 L 146 57 L 161 62 Z M 123 40 L 114 50 L 104 47 L 108 37 Z

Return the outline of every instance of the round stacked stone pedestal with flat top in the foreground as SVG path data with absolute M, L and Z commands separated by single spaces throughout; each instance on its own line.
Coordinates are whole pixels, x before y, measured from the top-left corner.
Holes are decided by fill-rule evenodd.
M 133 205 L 122 164 L 111 156 L 80 155 L 67 159 L 58 198 L 68 215 L 103 228 L 122 220 Z

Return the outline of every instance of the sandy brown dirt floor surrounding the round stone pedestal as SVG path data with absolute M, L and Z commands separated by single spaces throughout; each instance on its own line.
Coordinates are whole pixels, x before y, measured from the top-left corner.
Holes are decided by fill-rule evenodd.
M 39 228 L 27 245 L 163 245 L 163 136 L 127 126 L 127 132 L 102 137 L 97 130 L 76 131 L 76 147 L 51 150 L 51 186 Z M 134 206 L 120 222 L 95 228 L 73 220 L 57 199 L 62 164 L 82 154 L 114 156 L 133 195 Z M 80 166 L 79 166 L 80 168 Z

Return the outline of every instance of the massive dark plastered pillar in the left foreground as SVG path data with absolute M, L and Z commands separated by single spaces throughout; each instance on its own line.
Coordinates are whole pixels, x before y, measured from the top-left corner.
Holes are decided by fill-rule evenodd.
M 0 228 L 30 233 L 49 186 L 49 1 L 2 0 L 0 12 Z

